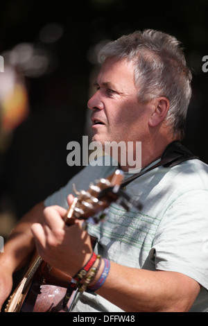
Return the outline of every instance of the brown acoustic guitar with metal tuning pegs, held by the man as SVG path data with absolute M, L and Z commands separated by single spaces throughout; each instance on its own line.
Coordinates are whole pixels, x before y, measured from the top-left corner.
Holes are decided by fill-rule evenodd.
M 110 203 L 119 201 L 125 209 L 134 204 L 141 209 L 139 203 L 132 203 L 130 197 L 121 190 L 123 173 L 116 170 L 108 178 L 101 178 L 96 185 L 91 184 L 87 191 L 76 191 L 77 197 L 70 205 L 64 222 L 67 225 L 74 223 L 76 218 L 84 219 L 85 225 L 92 221 L 98 223 L 103 212 Z M 119 198 L 123 198 L 119 200 Z M 129 205 L 130 203 L 130 205 Z M 96 216 L 96 217 L 92 217 Z M 93 239 L 92 239 L 93 241 Z M 69 301 L 63 306 L 67 293 L 67 286 L 71 278 L 56 268 L 49 266 L 35 252 L 28 271 L 21 282 L 10 295 L 6 304 L 5 312 L 67 312 L 73 307 L 77 291 L 73 291 Z

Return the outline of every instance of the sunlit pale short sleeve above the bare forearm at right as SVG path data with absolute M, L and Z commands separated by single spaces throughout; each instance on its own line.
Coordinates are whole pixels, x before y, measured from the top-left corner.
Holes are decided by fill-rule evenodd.
M 190 190 L 171 203 L 149 257 L 157 270 L 183 273 L 208 289 L 207 190 Z

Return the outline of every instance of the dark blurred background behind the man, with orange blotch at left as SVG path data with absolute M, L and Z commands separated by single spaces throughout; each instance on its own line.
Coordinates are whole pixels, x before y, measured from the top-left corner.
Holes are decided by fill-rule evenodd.
M 1 235 L 80 169 L 67 166 L 67 143 L 88 132 L 96 51 L 123 34 L 154 28 L 182 42 L 193 72 L 183 143 L 208 163 L 207 13 L 207 0 L 1 1 Z

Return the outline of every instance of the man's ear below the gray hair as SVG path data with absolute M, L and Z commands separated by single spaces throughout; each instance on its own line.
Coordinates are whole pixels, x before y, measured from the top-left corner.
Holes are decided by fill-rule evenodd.
M 153 112 L 150 115 L 149 126 L 156 127 L 165 119 L 170 108 L 170 101 L 166 97 L 158 97 L 153 101 Z

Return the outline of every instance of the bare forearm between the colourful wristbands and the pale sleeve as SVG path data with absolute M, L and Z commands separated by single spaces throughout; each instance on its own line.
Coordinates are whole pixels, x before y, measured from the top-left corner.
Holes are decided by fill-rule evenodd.
M 198 282 L 181 273 L 111 263 L 110 273 L 97 293 L 124 311 L 185 312 L 199 291 Z

